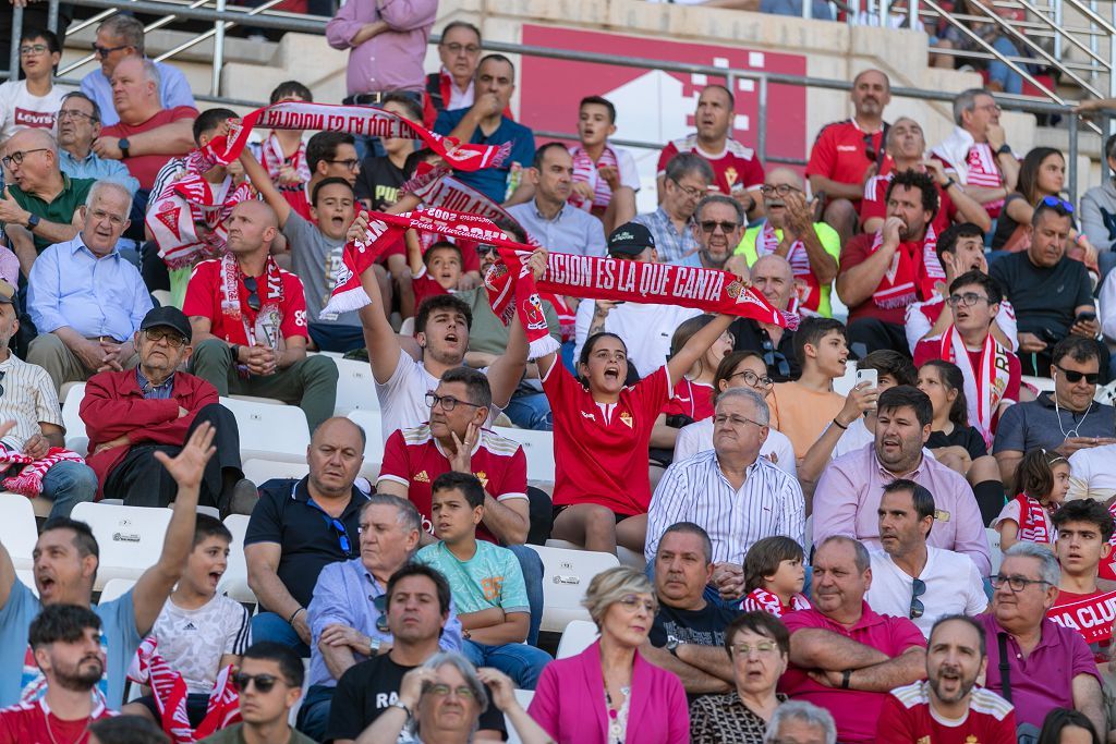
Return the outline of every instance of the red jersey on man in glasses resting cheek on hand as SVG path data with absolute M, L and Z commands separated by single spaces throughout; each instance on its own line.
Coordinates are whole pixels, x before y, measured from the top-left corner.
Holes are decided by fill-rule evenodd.
M 469 465 L 484 491 L 497 501 L 527 499 L 527 456 L 518 442 L 481 429 Z M 430 424 L 423 424 L 398 429 L 387 437 L 379 477 L 407 487 L 407 499 L 422 514 L 423 529 L 434 534 L 431 484 L 451 470 L 442 445 L 431 436 Z M 477 538 L 499 542 L 483 522 L 477 525 Z

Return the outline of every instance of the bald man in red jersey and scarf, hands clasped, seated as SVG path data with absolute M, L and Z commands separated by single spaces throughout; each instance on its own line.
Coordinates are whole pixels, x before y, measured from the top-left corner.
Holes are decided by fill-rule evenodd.
M 182 306 L 194 334 L 193 374 L 221 396 L 297 405 L 312 432 L 334 414 L 337 365 L 306 355 L 302 282 L 270 255 L 278 218 L 253 200 L 238 204 L 225 224 L 228 252 L 194 268 Z

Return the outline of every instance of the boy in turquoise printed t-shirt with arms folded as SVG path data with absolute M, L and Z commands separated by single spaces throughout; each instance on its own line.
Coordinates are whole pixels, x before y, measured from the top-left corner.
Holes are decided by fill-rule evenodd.
M 442 473 L 431 485 L 434 534 L 415 560 L 437 569 L 450 582 L 461 651 L 478 667 L 496 667 L 520 689 L 535 689 L 552 659 L 523 641 L 531 610 L 519 559 L 507 548 L 477 539 L 484 516 L 484 486 L 469 473 Z

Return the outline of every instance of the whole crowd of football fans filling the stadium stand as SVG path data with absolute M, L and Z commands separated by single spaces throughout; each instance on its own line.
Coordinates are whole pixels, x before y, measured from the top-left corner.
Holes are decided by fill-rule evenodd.
M 927 143 L 866 69 L 805 178 L 764 170 L 708 85 L 639 214 L 612 102 L 586 90 L 579 142 L 537 142 L 472 25 L 439 29 L 426 74 L 435 11 L 329 21 L 350 51 L 328 103 L 410 123 L 393 136 L 261 128 L 240 152 L 134 18 L 100 23 L 73 91 L 58 38 L 22 32 L 0 458 L 50 514 L 29 577 L 0 545 L 0 744 L 1116 741 L 1116 178 L 1066 201 L 1066 157 L 1013 149 L 984 89 Z M 291 80 L 271 106 L 315 102 Z M 453 170 L 434 135 L 500 156 Z M 411 229 L 352 276 L 377 213 L 451 199 L 529 243 L 521 264 Z M 727 272 L 767 315 L 599 286 L 499 311 L 502 273 L 542 282 L 564 253 Z M 346 282 L 363 299 L 335 312 Z M 325 352 L 367 360 L 381 431 L 335 415 Z M 305 414 L 305 477 L 246 477 L 230 395 Z M 498 423 L 550 432 L 554 483 Z M 71 513 L 103 500 L 173 510 L 95 602 Z M 247 516 L 242 545 L 214 513 Z M 585 586 L 595 638 L 557 659 L 548 539 L 612 566 Z M 221 591 L 233 550 L 252 611 Z

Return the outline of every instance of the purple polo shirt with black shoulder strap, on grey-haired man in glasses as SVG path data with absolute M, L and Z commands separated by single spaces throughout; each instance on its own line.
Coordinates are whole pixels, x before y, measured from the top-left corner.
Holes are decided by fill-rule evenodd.
M 988 677 L 985 687 L 1002 697 L 1000 683 L 999 634 L 1007 634 L 995 621 L 995 616 L 978 615 L 974 618 L 984 628 L 988 644 Z M 1008 664 L 1011 667 L 1011 704 L 1016 706 L 1016 723 L 1042 726 L 1051 708 L 1074 707 L 1074 677 L 1087 674 L 1100 683 L 1097 664 L 1080 634 L 1062 628 L 1043 618 L 1039 645 L 1023 658 L 1019 644 L 1008 635 Z

